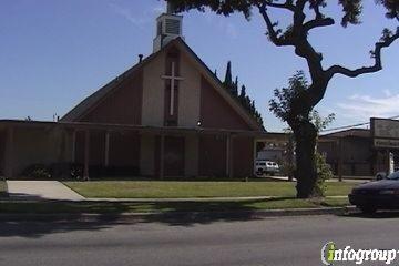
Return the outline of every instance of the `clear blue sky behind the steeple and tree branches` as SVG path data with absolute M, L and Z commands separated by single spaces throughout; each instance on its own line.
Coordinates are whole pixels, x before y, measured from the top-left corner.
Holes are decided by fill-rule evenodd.
M 329 1 L 330 2 L 330 1 Z M 331 1 L 337 20 L 340 10 Z M 371 64 L 368 51 L 383 27 L 393 21 L 374 1 L 365 1 L 362 23 L 342 29 L 339 23 L 316 30 L 310 40 L 323 52 L 324 65 L 356 68 Z M 152 52 L 155 18 L 164 10 L 157 0 L 3 0 L 0 2 L 0 119 L 52 120 L 65 114 L 101 85 Z M 273 12 L 275 18 L 280 12 Z M 284 16 L 284 14 L 283 14 Z M 286 22 L 283 17 L 282 24 Z M 290 48 L 276 48 L 265 37 L 264 22 L 211 12 L 184 13 L 188 45 L 223 79 L 226 62 L 256 100 L 266 129 L 285 125 L 269 111 L 275 88 L 305 62 Z M 399 115 L 399 42 L 383 51 L 381 72 L 358 79 L 336 76 L 317 109 L 336 113 L 331 126 L 367 121 L 369 116 Z

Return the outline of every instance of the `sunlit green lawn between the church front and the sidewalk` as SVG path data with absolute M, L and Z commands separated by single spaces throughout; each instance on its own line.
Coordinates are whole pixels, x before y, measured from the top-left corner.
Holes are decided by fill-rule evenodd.
M 175 198 L 175 197 L 294 197 L 295 183 L 288 182 L 177 182 L 91 181 L 64 182 L 85 197 Z M 357 183 L 327 183 L 327 196 L 347 195 Z

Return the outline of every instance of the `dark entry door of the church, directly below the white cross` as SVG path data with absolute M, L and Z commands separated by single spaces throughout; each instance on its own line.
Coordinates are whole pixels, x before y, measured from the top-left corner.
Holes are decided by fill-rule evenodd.
M 164 146 L 165 176 L 184 175 L 184 137 L 165 136 Z

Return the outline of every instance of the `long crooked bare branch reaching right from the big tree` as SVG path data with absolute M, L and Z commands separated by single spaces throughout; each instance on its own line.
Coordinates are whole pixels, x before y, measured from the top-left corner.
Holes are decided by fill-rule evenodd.
M 380 42 L 376 43 L 376 49 L 375 49 L 375 52 L 374 52 L 374 57 L 375 57 L 375 64 L 374 65 L 364 66 L 364 68 L 359 68 L 359 69 L 356 69 L 356 70 L 349 70 L 349 69 L 340 66 L 340 65 L 332 65 L 326 71 L 327 78 L 331 79 L 335 74 L 342 74 L 342 75 L 346 75 L 346 76 L 349 76 L 349 78 L 356 78 L 356 76 L 361 75 L 361 74 L 375 73 L 375 72 L 380 71 L 382 69 L 381 50 L 383 48 L 388 48 L 397 39 L 399 39 L 399 27 L 397 28 L 396 34 L 386 38 L 383 41 L 380 41 Z

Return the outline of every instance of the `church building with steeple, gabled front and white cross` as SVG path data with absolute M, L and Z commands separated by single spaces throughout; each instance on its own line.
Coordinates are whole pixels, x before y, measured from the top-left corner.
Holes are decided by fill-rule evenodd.
M 266 131 L 185 43 L 182 16 L 156 19 L 153 53 L 58 122 L 0 121 L 0 176 L 34 164 L 129 176 L 252 176 Z

